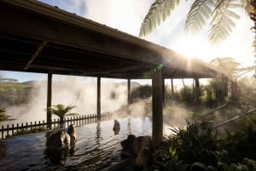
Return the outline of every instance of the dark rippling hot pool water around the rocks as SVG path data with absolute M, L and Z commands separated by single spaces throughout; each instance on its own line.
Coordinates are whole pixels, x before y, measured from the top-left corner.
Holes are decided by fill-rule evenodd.
M 128 134 L 151 135 L 148 117 L 118 119 L 119 134 L 113 133 L 113 121 L 92 123 L 77 128 L 78 148 L 73 155 L 53 163 L 44 153 L 46 133 L 29 134 L 0 140 L 0 170 L 101 170 L 120 161 L 120 141 Z

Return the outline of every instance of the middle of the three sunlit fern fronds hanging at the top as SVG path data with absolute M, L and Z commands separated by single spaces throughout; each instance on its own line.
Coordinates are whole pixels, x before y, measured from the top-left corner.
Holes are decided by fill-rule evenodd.
M 206 25 L 206 20 L 212 17 L 214 4 L 214 0 L 195 0 L 187 14 L 185 31 L 189 33 L 200 31 Z

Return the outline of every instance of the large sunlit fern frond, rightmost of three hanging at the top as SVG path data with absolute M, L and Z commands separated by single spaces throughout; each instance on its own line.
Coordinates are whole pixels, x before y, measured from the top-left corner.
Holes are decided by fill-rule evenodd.
M 240 18 L 232 9 L 241 7 L 241 3 L 237 3 L 237 0 L 218 0 L 213 10 L 211 30 L 208 35 L 211 43 L 219 43 L 230 36 L 230 32 L 236 26 L 233 20 Z

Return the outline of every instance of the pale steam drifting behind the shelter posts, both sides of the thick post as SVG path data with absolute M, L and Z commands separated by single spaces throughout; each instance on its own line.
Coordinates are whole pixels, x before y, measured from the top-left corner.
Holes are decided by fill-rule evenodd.
M 109 81 L 110 80 L 110 81 Z M 127 83 L 116 83 L 115 80 L 102 79 L 101 83 L 101 111 L 115 111 L 127 105 Z M 169 84 L 169 82 L 167 82 Z M 171 86 L 171 85 L 170 85 Z M 80 115 L 96 114 L 96 77 L 53 76 L 52 105 L 75 105 L 72 112 Z M 3 125 L 16 123 L 46 122 L 47 81 L 33 83 L 32 93 L 29 94 L 27 104 L 6 107 L 6 113 L 15 120 L 4 122 Z M 151 98 L 137 99 L 129 105 L 128 114 L 132 117 L 152 117 Z M 176 104 L 169 104 L 175 106 Z M 171 127 L 183 128 L 189 112 L 183 108 L 174 107 L 173 110 L 164 110 L 164 130 Z M 57 119 L 55 115 L 53 119 Z M 166 134 L 166 133 L 164 133 Z

